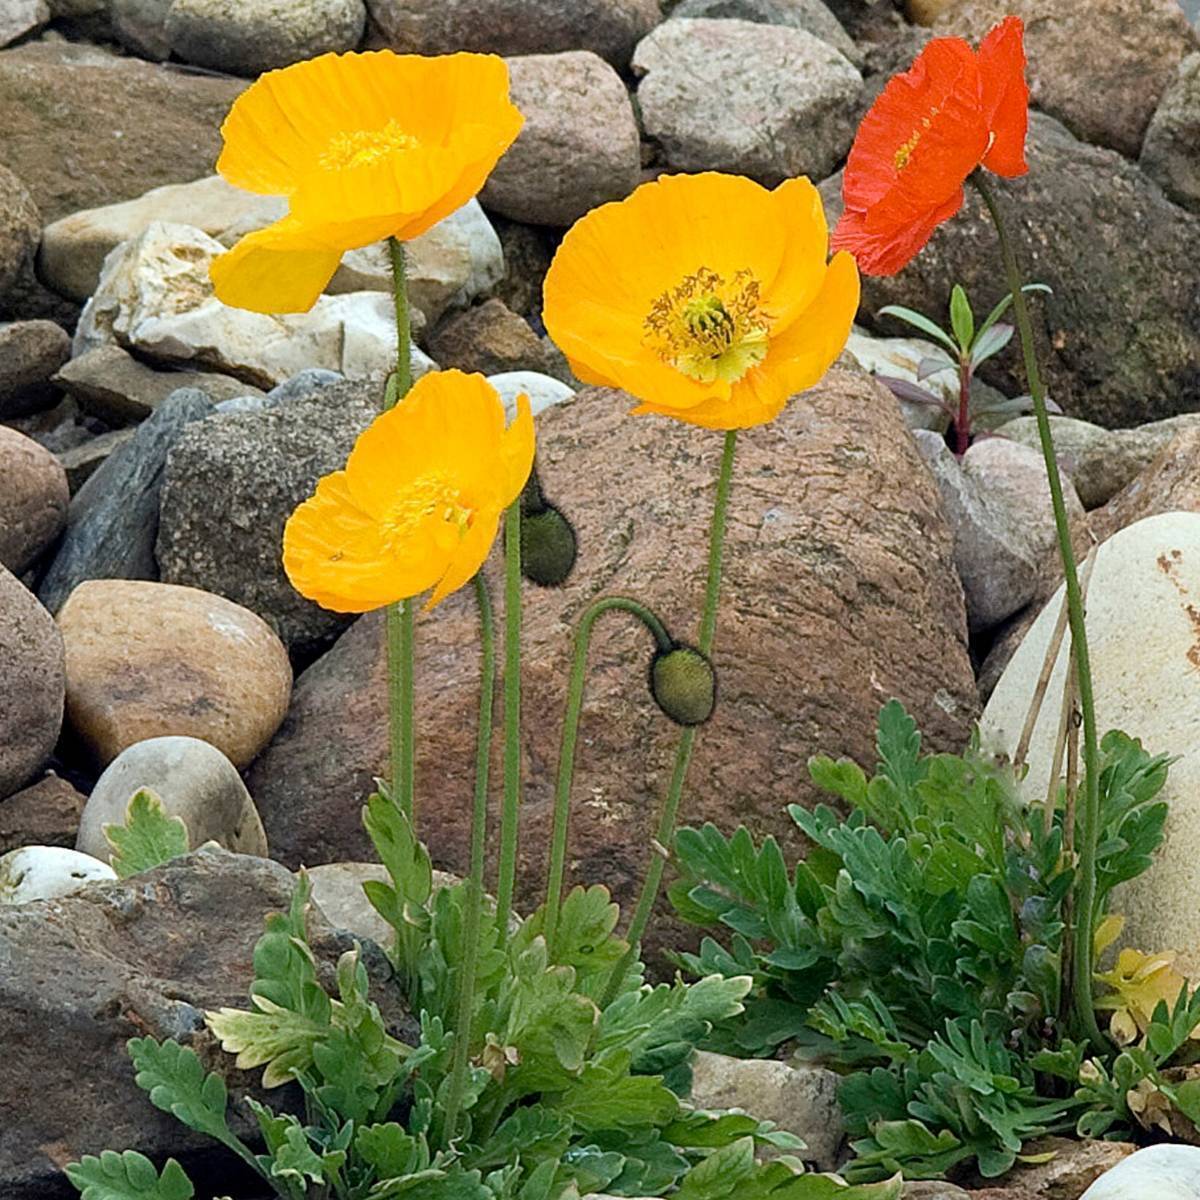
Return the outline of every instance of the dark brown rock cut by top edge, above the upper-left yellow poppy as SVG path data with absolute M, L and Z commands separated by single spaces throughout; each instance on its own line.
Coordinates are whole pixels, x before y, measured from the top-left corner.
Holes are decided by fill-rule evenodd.
M 367 0 L 367 7 L 388 44 L 404 53 L 592 50 L 618 67 L 662 19 L 659 0 Z

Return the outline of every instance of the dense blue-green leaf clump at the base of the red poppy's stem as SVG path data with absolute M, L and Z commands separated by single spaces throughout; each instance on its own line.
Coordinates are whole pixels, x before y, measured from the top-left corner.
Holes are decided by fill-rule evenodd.
M 1162 840 L 1168 764 L 1121 733 L 1102 752 L 1097 920 Z M 672 900 L 725 935 L 682 961 L 696 976 L 754 979 L 745 1014 L 718 1022 L 709 1044 L 766 1055 L 794 1042 L 845 1072 L 857 1178 L 938 1176 L 966 1160 L 995 1176 L 1043 1133 L 1094 1130 L 1106 1120 L 1097 1111 L 1127 1123 L 1111 1096 L 1088 1091 L 1094 1063 L 1081 1076 L 1082 1056 L 1073 1075 L 1046 1060 L 1072 1092 L 1040 1057 L 1082 1042 L 1064 1012 L 1074 869 L 1061 812 L 1046 830 L 1012 770 L 977 745 L 923 754 L 894 701 L 880 715 L 878 754 L 870 778 L 845 760 L 812 760 L 814 781 L 848 812 L 790 808 L 812 846 L 792 870 L 774 839 L 680 830 Z M 1186 1040 L 1177 1032 L 1156 1034 L 1166 1054 L 1157 1066 Z M 1126 1078 L 1157 1069 L 1135 1058 Z M 1099 1069 L 1118 1061 L 1099 1055 Z

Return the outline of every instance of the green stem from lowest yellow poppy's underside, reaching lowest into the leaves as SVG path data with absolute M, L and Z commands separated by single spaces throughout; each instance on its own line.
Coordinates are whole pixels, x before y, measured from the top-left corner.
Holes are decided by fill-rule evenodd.
M 467 913 L 463 922 L 462 965 L 458 976 L 458 1020 L 454 1061 L 446 1088 L 445 1142 L 457 1136 L 458 1114 L 467 1087 L 470 1025 L 475 1014 L 475 972 L 479 966 L 479 928 L 484 910 L 484 851 L 487 845 L 487 766 L 492 746 L 492 694 L 496 688 L 496 632 L 492 601 L 482 575 L 475 576 L 479 601 L 479 641 L 482 653 L 479 682 L 479 730 L 475 738 L 475 805 L 470 820 L 470 871 L 467 876 Z

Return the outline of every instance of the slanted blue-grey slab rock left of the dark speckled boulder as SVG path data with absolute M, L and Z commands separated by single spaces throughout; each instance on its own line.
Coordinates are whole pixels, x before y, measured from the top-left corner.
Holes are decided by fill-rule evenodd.
M 38 588 L 47 608 L 58 612 L 84 580 L 157 576 L 154 545 L 167 455 L 187 425 L 211 412 L 203 392 L 175 392 L 79 488 L 62 545 Z

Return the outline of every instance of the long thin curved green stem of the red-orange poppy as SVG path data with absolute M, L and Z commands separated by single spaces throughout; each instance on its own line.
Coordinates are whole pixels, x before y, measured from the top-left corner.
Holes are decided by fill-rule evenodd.
M 1050 432 L 1050 416 L 1046 413 L 1045 388 L 1038 371 L 1037 353 L 1033 347 L 1033 326 L 1030 323 L 1030 311 L 1021 290 L 1021 272 L 1016 257 L 1004 228 L 1003 217 L 991 193 L 986 180 L 977 172 L 971 176 L 988 205 L 996 235 L 1000 239 L 1000 253 L 1004 262 L 1004 274 L 1008 290 L 1013 296 L 1013 312 L 1016 328 L 1021 335 L 1021 353 L 1025 358 L 1025 374 L 1030 384 L 1030 396 L 1033 400 L 1033 412 L 1037 416 L 1038 437 L 1042 442 L 1042 456 L 1045 460 L 1046 479 L 1050 482 L 1050 500 L 1054 506 L 1055 530 L 1058 535 L 1058 553 L 1062 556 L 1063 581 L 1067 589 L 1067 620 L 1070 625 L 1070 653 L 1074 658 L 1079 683 L 1079 707 L 1084 714 L 1084 803 L 1079 820 L 1079 870 L 1075 876 L 1075 934 L 1074 934 L 1074 1008 L 1084 1034 L 1097 1046 L 1106 1045 L 1100 1027 L 1096 1021 L 1096 1009 L 1092 1004 L 1092 935 L 1096 925 L 1096 844 L 1100 824 L 1100 751 L 1096 733 L 1096 696 L 1092 689 L 1092 667 L 1087 653 L 1087 626 L 1084 612 L 1084 598 L 1079 586 L 1079 572 L 1075 568 L 1075 551 L 1070 541 L 1070 522 L 1067 517 L 1067 505 L 1063 500 L 1062 478 L 1058 474 L 1058 458 L 1054 448 L 1054 434 Z

